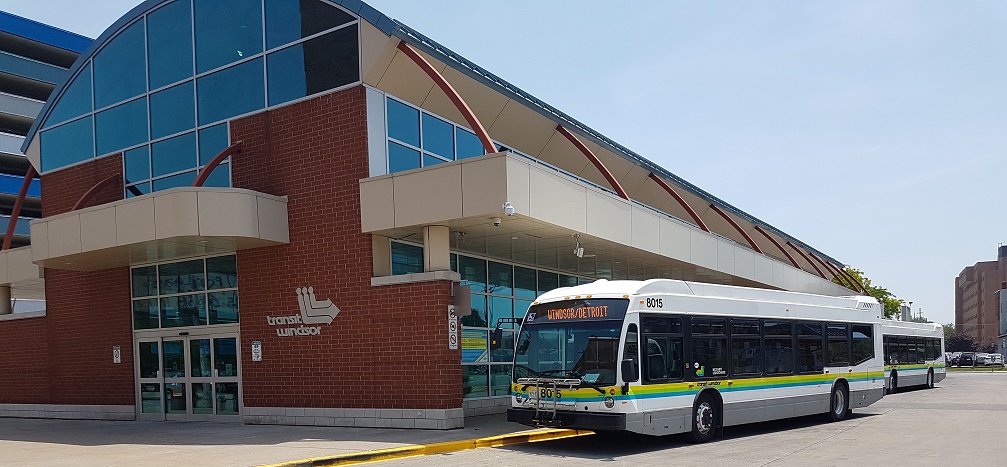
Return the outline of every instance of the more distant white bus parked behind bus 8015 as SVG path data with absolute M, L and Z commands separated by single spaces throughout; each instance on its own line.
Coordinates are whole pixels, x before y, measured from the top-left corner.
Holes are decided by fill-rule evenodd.
M 945 378 L 944 326 L 882 320 L 881 335 L 888 393 L 910 385 L 933 387 Z

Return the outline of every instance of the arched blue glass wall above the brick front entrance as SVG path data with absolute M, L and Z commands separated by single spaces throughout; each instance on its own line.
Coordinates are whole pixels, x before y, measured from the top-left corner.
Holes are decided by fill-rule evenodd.
M 125 195 L 189 185 L 236 117 L 359 82 L 358 20 L 320 0 L 173 0 L 89 58 L 41 124 L 42 172 L 123 153 Z M 205 186 L 230 186 L 227 165 Z

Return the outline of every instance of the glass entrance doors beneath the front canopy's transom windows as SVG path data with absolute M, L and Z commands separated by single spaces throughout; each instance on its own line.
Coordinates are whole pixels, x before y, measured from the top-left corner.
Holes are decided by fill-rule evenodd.
M 241 421 L 237 334 L 138 337 L 142 420 Z

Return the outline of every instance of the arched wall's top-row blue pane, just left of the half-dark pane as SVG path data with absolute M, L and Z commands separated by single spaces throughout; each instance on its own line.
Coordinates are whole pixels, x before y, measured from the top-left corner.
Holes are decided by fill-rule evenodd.
M 261 51 L 260 0 L 195 0 L 197 72 L 208 71 Z

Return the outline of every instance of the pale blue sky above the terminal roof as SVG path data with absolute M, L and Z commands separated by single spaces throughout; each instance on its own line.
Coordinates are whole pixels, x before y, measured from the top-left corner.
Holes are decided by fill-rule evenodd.
M 96 37 L 137 3 L 2 8 Z M 369 3 L 933 321 L 1007 242 L 1007 3 Z

